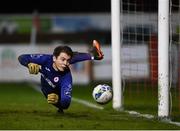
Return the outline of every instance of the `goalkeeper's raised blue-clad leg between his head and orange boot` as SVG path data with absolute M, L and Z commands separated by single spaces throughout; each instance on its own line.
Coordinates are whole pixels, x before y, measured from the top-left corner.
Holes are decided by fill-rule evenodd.
M 89 53 L 79 53 L 75 52 L 70 64 L 74 64 L 76 62 L 86 61 L 86 60 L 92 60 L 92 56 Z

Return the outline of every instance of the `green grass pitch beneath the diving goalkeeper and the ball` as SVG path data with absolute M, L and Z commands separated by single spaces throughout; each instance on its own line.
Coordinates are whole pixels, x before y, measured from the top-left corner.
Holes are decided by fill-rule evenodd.
M 96 104 L 91 96 L 94 85 L 75 86 L 73 97 Z M 125 94 L 125 108 L 137 108 L 142 112 L 155 114 L 155 105 L 144 105 Z M 148 95 L 145 95 L 149 97 Z M 140 99 L 140 98 L 138 98 Z M 148 98 L 147 98 L 148 99 Z M 145 100 L 147 100 L 145 99 Z M 137 102 L 137 103 L 136 103 Z M 156 103 L 156 102 L 154 102 Z M 180 127 L 130 115 L 112 109 L 112 102 L 95 109 L 72 101 L 65 114 L 58 114 L 56 108 L 46 102 L 45 97 L 27 83 L 0 84 L 0 130 L 172 130 Z M 150 108 L 150 109 L 149 109 Z M 135 109 L 134 109 L 135 110 Z

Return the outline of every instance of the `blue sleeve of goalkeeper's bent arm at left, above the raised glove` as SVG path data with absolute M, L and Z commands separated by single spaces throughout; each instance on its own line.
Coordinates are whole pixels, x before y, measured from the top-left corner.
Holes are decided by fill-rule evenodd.
M 18 60 L 24 66 L 27 66 L 29 63 L 43 65 L 47 57 L 48 55 L 44 54 L 23 54 L 18 57 Z

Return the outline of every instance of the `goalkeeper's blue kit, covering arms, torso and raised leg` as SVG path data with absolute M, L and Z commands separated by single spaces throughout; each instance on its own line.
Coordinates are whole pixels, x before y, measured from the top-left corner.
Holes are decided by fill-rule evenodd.
M 51 54 L 23 54 L 18 57 L 19 62 L 28 67 L 29 63 L 36 63 L 41 66 L 41 86 L 44 95 L 47 97 L 49 93 L 57 93 L 60 95 L 61 108 L 69 106 L 72 92 L 72 75 L 70 69 L 65 71 L 56 71 L 53 68 L 53 55 Z M 88 53 L 76 53 L 70 60 L 70 64 L 76 62 L 91 60 Z M 55 92 L 57 91 L 57 92 Z

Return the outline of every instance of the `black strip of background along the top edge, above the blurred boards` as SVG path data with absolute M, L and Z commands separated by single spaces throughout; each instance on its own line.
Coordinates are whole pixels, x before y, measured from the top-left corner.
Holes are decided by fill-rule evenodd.
M 123 9 L 134 10 L 133 4 L 137 4 L 137 11 L 155 12 L 158 9 L 158 0 L 123 0 Z M 132 5 L 127 5 L 126 3 Z M 172 4 L 178 4 L 179 0 L 172 0 Z M 2 1 L 1 14 L 32 13 L 110 13 L 111 0 L 6 0 Z M 178 7 L 173 6 L 173 10 Z

